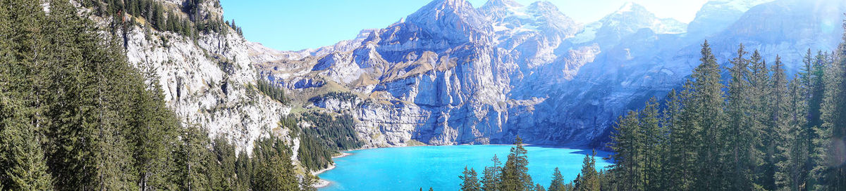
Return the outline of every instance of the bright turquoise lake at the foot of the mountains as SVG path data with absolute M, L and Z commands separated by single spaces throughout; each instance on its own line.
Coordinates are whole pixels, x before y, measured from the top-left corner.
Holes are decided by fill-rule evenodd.
M 491 166 L 494 154 L 505 163 L 512 146 L 411 146 L 348 151 L 335 158 L 334 169 L 319 176 L 330 181 L 321 191 L 336 190 L 458 190 L 464 166 L 481 177 Z M 529 152 L 529 173 L 535 183 L 547 187 L 552 171 L 559 167 L 567 181 L 581 172 L 582 160 L 590 150 L 525 146 Z M 602 160 L 609 153 L 596 151 L 596 168 L 612 163 Z

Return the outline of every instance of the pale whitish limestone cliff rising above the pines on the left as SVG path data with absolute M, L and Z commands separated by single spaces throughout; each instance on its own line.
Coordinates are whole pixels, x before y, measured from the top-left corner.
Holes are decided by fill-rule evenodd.
M 183 1 L 162 3 L 178 8 Z M 198 18 L 222 15 L 217 1 L 205 1 L 199 7 Z M 129 15 L 124 19 L 139 20 Z M 99 20 L 103 25 L 108 22 Z M 185 126 L 206 128 L 212 137 L 227 137 L 248 152 L 253 141 L 271 134 L 296 146 L 299 141 L 277 124 L 290 107 L 254 88 L 259 72 L 250 58 L 251 43 L 232 31 L 198 34 L 193 40 L 136 25 L 126 32 L 126 55 L 129 63 L 146 74 L 147 82 L 162 88 L 168 106 Z

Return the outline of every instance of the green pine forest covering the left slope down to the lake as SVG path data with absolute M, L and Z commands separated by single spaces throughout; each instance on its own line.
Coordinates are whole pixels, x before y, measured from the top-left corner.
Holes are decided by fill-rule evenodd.
M 0 190 L 314 190 L 283 141 L 184 125 L 117 36 L 47 6 L 0 0 Z

